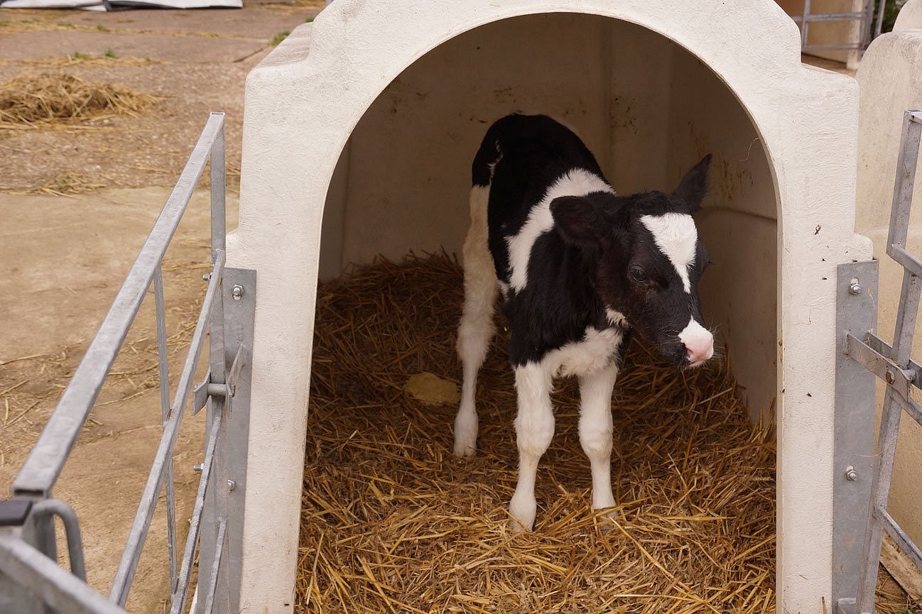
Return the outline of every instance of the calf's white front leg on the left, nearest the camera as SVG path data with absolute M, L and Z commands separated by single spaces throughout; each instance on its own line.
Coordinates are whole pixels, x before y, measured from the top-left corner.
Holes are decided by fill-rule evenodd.
M 540 364 L 530 362 L 515 367 L 518 414 L 515 437 L 519 451 L 518 484 L 509 503 L 513 528 L 531 530 L 535 525 L 538 502 L 535 501 L 535 478 L 538 461 L 548 450 L 554 436 L 554 413 L 550 405 L 550 373 Z

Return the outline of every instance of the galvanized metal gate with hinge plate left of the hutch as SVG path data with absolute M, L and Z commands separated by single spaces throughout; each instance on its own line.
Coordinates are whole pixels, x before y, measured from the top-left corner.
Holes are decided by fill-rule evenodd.
M 208 282 L 205 300 L 175 396 L 170 401 L 160 263 L 208 159 L 212 268 L 205 276 Z M 124 614 L 161 490 L 166 491 L 171 614 L 184 614 L 187 609 L 196 552 L 196 614 L 238 611 L 255 272 L 224 266 L 224 188 L 224 113 L 211 113 L 112 308 L 19 470 L 12 497 L 0 502 L 0 612 Z M 77 514 L 66 502 L 54 499 L 52 490 L 151 285 L 157 313 L 163 432 L 112 589 L 105 597 L 86 583 Z M 195 367 L 206 338 L 209 372 L 205 381 L 194 389 Z M 206 405 L 207 437 L 201 478 L 188 538 L 179 558 L 173 447 L 187 410 L 195 414 Z M 65 525 L 70 572 L 57 564 L 54 516 Z

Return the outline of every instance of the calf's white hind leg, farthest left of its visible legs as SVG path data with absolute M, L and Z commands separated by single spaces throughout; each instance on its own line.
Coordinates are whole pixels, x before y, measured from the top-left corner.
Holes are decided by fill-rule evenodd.
M 461 404 L 455 416 L 455 455 L 473 456 L 477 452 L 477 373 L 487 357 L 496 301 L 496 270 L 487 246 L 487 199 L 490 188 L 475 185 L 470 191 L 470 230 L 464 242 L 464 308 L 458 325 L 457 350 L 461 359 L 463 383 Z

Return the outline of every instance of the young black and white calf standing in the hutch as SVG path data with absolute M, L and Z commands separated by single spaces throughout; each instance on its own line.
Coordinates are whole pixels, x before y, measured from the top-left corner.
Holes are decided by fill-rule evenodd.
M 709 163 L 702 159 L 673 194 L 619 196 L 579 137 L 550 117 L 509 115 L 484 136 L 464 244 L 455 454 L 477 449 L 474 391 L 501 290 L 518 395 L 519 474 L 509 511 L 527 529 L 535 522 L 538 459 L 554 432 L 554 377 L 579 378 L 592 504 L 606 508 L 615 505 L 611 392 L 632 330 L 679 366 L 714 353 L 698 306 L 708 259 L 691 218 Z

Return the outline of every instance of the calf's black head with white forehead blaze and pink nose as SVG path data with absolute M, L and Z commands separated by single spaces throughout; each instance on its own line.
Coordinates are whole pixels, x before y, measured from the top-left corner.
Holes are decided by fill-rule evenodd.
M 698 282 L 707 253 L 691 217 L 707 188 L 705 156 L 672 194 L 595 192 L 550 203 L 554 227 L 595 271 L 609 319 L 632 326 L 667 360 L 697 366 L 714 354 Z

